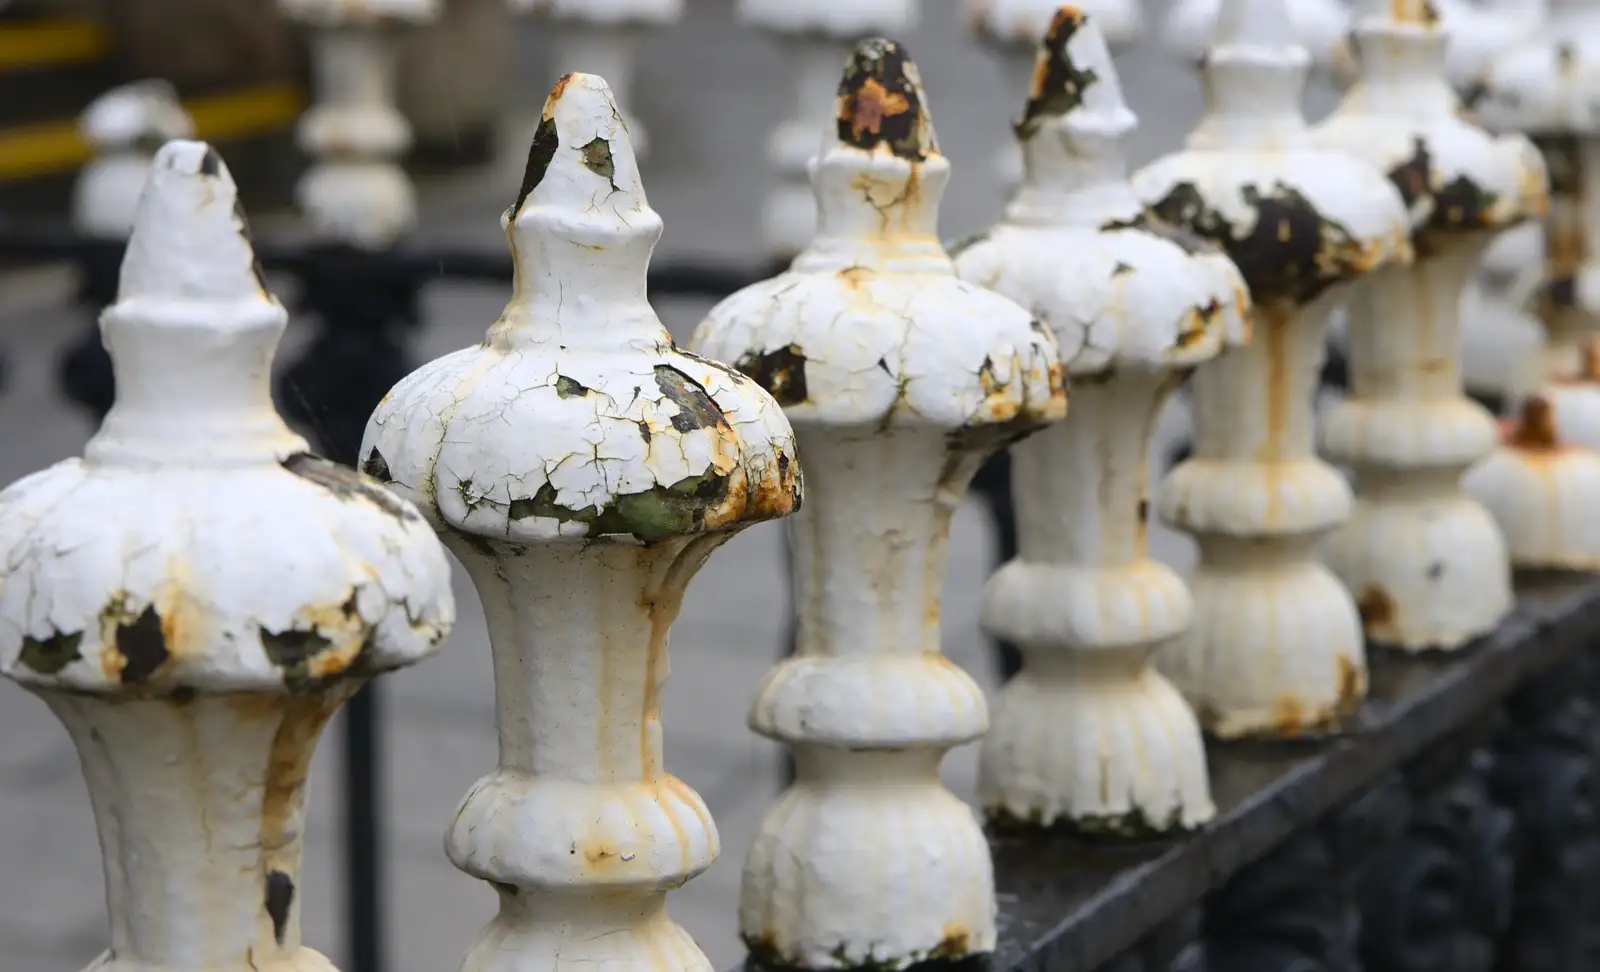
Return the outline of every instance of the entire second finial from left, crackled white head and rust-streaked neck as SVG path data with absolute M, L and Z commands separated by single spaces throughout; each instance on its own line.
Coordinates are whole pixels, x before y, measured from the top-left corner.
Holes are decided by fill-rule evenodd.
M 661 763 L 667 638 L 706 558 L 800 504 L 794 436 L 755 382 L 674 349 L 651 310 L 661 217 L 606 83 L 563 77 L 542 120 L 502 217 L 510 302 L 480 345 L 395 385 L 362 444 L 488 615 L 501 766 L 446 850 L 501 911 L 461 969 L 709 972 L 666 913 L 718 849 Z

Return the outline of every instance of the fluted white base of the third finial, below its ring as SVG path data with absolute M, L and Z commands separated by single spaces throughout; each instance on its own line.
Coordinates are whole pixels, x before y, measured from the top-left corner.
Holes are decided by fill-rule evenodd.
M 797 780 L 744 862 L 755 962 L 893 972 L 994 950 L 989 843 L 939 782 L 944 748 L 795 747 Z

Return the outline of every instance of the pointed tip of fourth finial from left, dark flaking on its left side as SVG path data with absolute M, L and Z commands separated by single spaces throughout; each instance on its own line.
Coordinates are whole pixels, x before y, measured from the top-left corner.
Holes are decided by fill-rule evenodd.
M 1059 117 L 1114 134 L 1138 125 L 1123 101 L 1106 37 L 1077 6 L 1056 10 L 1038 45 L 1027 106 L 1014 123 L 1016 137 L 1029 139 L 1045 120 Z

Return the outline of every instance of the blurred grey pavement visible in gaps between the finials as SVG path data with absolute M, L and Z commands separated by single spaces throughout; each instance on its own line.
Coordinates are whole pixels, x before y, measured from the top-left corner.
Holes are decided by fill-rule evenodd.
M 1154 13 L 1154 11 L 1152 11 Z M 922 66 L 941 142 L 955 177 L 942 232 L 947 238 L 992 221 L 994 147 L 1010 137 L 1021 94 L 1000 88 L 1000 72 L 965 35 L 954 0 L 925 3 L 923 24 L 904 37 Z M 525 51 L 512 88 L 542 99 L 538 45 Z M 1150 50 L 1123 61 L 1123 85 L 1144 128 L 1134 161 L 1170 150 L 1198 110 L 1198 86 L 1186 67 Z M 666 221 L 661 256 L 739 259 L 760 253 L 758 211 L 766 185 L 763 141 L 789 98 L 776 48 L 733 21 L 730 0 L 694 0 L 675 30 L 645 45 L 635 110 L 653 136 L 645 166 L 651 203 Z M 1315 99 L 1326 106 L 1326 93 Z M 502 246 L 498 214 L 515 181 L 480 173 L 422 187 L 422 233 Z M 277 225 L 277 219 L 259 219 Z M 11 380 L 0 395 L 0 484 L 77 454 L 91 428 L 54 387 L 61 349 L 86 323 L 72 309 L 70 273 L 46 269 L 0 278 L 0 342 Z M 282 281 L 275 281 L 282 283 Z M 282 293 L 282 291 L 280 291 Z M 506 288 L 435 286 L 419 352 L 435 357 L 475 342 L 504 304 Z M 683 339 L 706 305 L 662 302 Z M 291 325 L 280 363 L 306 339 Z M 1162 438 L 1184 425 L 1176 411 Z M 667 767 L 706 798 L 722 831 L 723 854 L 701 878 L 672 894 L 672 913 L 712 962 L 739 956 L 734 927 L 739 863 L 762 811 L 776 793 L 778 751 L 744 727 L 757 681 L 778 657 L 789 611 L 781 524 L 736 537 L 693 582 L 672 636 L 666 689 Z M 986 687 L 992 659 L 978 631 L 978 600 L 992 568 L 994 540 L 984 508 L 962 507 L 954 523 L 944 587 L 944 649 Z M 1189 560 L 1187 542 L 1155 532 L 1157 553 Z M 493 894 L 456 871 L 443 854 L 443 830 L 469 785 L 496 759 L 493 687 L 483 617 L 458 571 L 461 620 L 443 651 L 384 684 L 384 795 L 387 820 L 387 951 L 394 972 L 454 969 L 493 913 Z M 336 731 L 334 731 L 336 732 Z M 312 769 L 306 870 L 301 881 L 304 940 L 346 961 L 339 836 L 338 745 L 330 732 Z M 99 850 L 77 759 L 45 707 L 0 683 L 0 969 L 80 969 L 106 942 Z M 976 747 L 946 761 L 946 780 L 970 798 Z

